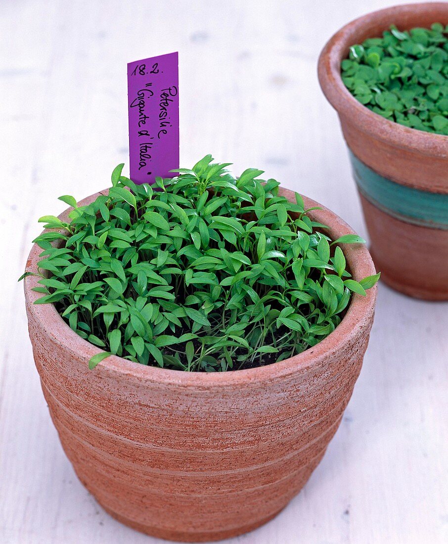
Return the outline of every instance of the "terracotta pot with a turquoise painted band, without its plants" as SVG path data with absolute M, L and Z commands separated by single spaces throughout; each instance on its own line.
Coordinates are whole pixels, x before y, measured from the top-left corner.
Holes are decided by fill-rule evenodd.
M 406 30 L 434 22 L 448 24 L 448 3 L 400 5 L 352 21 L 323 48 L 319 81 L 339 114 L 381 278 L 408 295 L 448 300 L 448 137 L 371 112 L 340 77 L 350 46 L 391 24 Z

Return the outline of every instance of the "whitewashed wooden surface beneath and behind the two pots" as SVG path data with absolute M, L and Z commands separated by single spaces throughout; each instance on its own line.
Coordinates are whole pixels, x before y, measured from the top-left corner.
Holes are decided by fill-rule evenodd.
M 111 519 L 74 475 L 16 282 L 38 217 L 64 208 L 57 196 L 94 193 L 127 162 L 126 63 L 179 51 L 181 166 L 211 152 L 236 172 L 265 169 L 365 236 L 316 61 L 335 30 L 387 4 L 3 0 L 1 542 L 159 542 Z M 281 515 L 232 542 L 447 542 L 447 329 L 448 305 L 381 285 L 364 368 L 325 459 Z

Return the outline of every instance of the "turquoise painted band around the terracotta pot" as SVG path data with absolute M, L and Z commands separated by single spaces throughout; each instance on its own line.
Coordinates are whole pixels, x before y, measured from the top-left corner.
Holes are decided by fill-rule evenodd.
M 395 183 L 377 174 L 351 151 L 349 154 L 359 192 L 372 204 L 401 221 L 448 230 L 448 194 L 430 193 Z

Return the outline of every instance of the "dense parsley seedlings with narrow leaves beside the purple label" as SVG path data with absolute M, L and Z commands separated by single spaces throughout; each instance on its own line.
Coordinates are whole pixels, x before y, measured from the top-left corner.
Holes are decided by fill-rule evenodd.
M 289 202 L 275 180 L 256 179 L 262 171 L 235 179 L 212 160 L 155 186 L 121 176 L 121 164 L 107 196 L 84 207 L 60 197 L 74 207 L 69 223 L 40 219 L 59 230 L 35 240 L 49 273 L 36 304 L 54 303 L 106 350 L 90 367 L 109 353 L 181 370 L 282 360 L 328 336 L 350 292 L 376 283 L 350 279 L 337 245 L 364 240 L 331 242 L 300 195 Z

